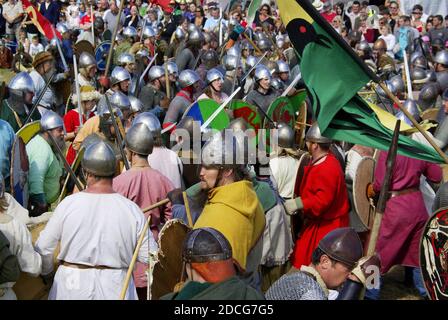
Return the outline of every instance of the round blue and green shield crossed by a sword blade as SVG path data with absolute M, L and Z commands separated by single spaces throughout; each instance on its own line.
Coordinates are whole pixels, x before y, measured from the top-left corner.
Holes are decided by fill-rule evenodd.
M 194 102 L 191 106 L 187 108 L 182 118 L 190 116 L 194 120 L 199 121 L 202 126 L 218 108 L 219 104 L 215 100 L 212 99 L 199 100 Z M 229 123 L 230 123 L 229 115 L 223 109 L 210 122 L 210 125 L 208 127 L 211 129 L 222 130 L 227 128 Z

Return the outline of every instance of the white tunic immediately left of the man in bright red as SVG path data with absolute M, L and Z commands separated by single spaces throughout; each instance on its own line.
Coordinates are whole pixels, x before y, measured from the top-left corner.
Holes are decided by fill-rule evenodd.
M 299 160 L 290 156 L 274 157 L 269 160 L 269 167 L 277 182 L 280 196 L 284 199 L 292 199 Z

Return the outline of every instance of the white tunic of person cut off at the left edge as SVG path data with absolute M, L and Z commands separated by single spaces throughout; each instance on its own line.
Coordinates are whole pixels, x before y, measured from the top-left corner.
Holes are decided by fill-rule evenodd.
M 6 200 L 9 205 L 4 213 L 0 213 L 0 231 L 9 241 L 9 249 L 17 256 L 20 270 L 29 273 L 31 276 L 37 277 L 41 273 L 42 259 L 40 255 L 34 251 L 31 234 L 28 231 L 23 214 L 26 212 L 10 194 L 5 193 Z M 6 293 L 0 297 L 2 299 L 15 299 L 12 287 L 15 282 L 7 282 L 0 284 L 1 289 L 7 289 Z

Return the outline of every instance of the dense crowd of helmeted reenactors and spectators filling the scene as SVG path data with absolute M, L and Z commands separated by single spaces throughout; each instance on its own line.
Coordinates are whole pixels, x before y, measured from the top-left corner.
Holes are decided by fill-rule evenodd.
M 306 89 L 275 2 L 254 16 L 249 1 L 29 2 L 0 5 L 0 68 L 13 72 L 0 90 L 0 299 L 16 298 L 20 272 L 40 275 L 49 299 L 118 299 L 137 248 L 125 298 L 144 300 L 158 281 L 151 273 L 161 231 L 174 219 L 191 231 L 178 243 L 182 274 L 171 275 L 183 282 L 162 299 L 379 299 L 382 275 L 395 265 L 428 297 L 419 246 L 429 216 L 446 205 L 442 169 L 397 156 L 376 253 L 367 256 L 371 226 L 361 223 L 351 187 L 375 150 L 323 136 L 309 99 L 306 123 L 272 120 L 277 98 Z M 448 148 L 448 19 L 421 5 L 406 16 L 399 1 L 312 4 Z M 30 8 L 61 39 L 45 36 Z M 363 97 L 413 126 L 380 87 L 369 84 Z M 253 114 L 236 116 L 230 98 Z M 190 112 L 197 102 L 224 106 L 226 127 L 199 128 L 206 119 L 198 125 Z M 261 129 L 256 117 L 278 133 L 268 162 L 249 161 L 248 145 L 263 146 L 242 138 Z M 27 139 L 30 123 L 39 127 Z M 28 166 L 20 188 L 18 149 Z M 362 191 L 372 202 L 386 171 L 387 152 L 376 154 Z M 43 222 L 32 242 L 27 227 Z M 364 295 L 372 272 L 378 285 Z

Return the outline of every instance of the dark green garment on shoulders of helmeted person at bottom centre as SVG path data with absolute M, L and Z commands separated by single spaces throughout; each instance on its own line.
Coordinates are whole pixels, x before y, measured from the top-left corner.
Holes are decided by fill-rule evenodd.
M 238 277 L 232 277 L 219 283 L 199 283 L 189 281 L 181 291 L 169 293 L 161 300 L 264 300 L 264 296 L 244 283 Z

